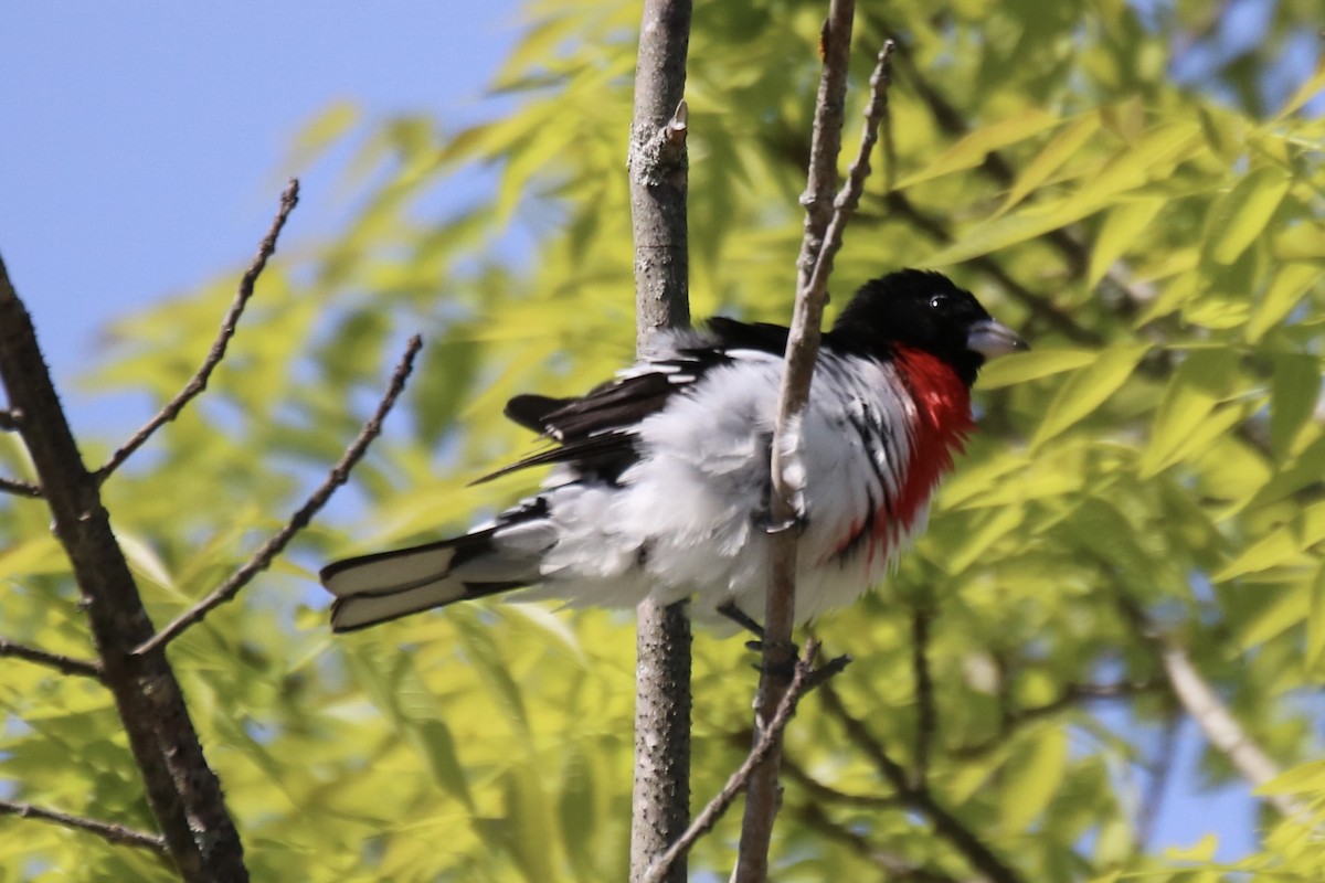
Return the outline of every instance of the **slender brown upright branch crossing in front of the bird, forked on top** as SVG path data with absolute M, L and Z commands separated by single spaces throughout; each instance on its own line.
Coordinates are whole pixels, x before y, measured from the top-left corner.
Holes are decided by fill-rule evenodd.
M 770 520 L 776 527 L 768 544 L 770 582 L 763 624 L 763 666 L 755 696 L 757 733 L 763 732 L 766 721 L 771 719 L 788 688 L 786 673 L 792 659 L 791 627 L 795 621 L 796 573 L 796 532 L 792 528 L 800 518 L 800 481 L 804 475 L 799 463 L 796 426 L 810 397 L 823 308 L 828 299 L 828 275 L 832 271 L 833 257 L 841 246 L 843 229 L 860 201 L 865 176 L 869 175 L 869 154 L 876 143 L 880 119 L 888 102 L 892 42 L 878 53 L 878 62 L 869 81 L 869 105 L 865 111 L 860 151 L 852 163 L 847 184 L 833 199 L 832 212 L 825 220 L 823 195 L 836 188 L 841 107 L 845 102 L 853 17 L 853 0 L 831 0 L 822 38 L 824 68 L 815 103 L 807 197 L 802 197 L 807 205 L 806 233 L 802 241 L 796 303 L 787 336 L 786 369 L 771 449 Z M 812 256 L 812 262 L 808 265 L 806 256 Z M 802 478 L 792 479 L 794 475 Z M 768 760 L 750 780 L 741 827 L 741 851 L 733 875 L 735 883 L 758 883 L 768 875 L 768 845 L 779 804 L 779 748 L 775 740 Z

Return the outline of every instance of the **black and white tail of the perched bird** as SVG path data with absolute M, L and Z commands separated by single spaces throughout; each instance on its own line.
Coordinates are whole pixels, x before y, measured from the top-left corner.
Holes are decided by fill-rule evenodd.
M 319 579 L 335 596 L 331 629 L 366 629 L 538 582 L 547 537 L 529 540 L 530 534 L 546 532 L 541 530 L 547 527 L 546 508 L 539 503 L 505 512 L 497 526 L 452 540 L 329 564 Z

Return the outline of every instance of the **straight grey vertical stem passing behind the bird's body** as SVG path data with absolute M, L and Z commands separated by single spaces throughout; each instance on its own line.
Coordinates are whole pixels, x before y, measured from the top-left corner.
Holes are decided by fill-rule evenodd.
M 656 331 L 690 323 L 684 101 L 690 7 L 690 0 L 645 0 L 640 21 L 628 162 L 640 355 Z M 632 883 L 690 818 L 690 620 L 684 604 L 645 600 L 636 622 Z M 684 857 L 657 879 L 684 883 Z

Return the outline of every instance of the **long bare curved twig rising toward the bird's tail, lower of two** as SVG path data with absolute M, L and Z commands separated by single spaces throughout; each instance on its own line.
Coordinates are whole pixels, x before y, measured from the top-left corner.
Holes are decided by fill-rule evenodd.
M 331 499 L 331 494 L 348 481 L 350 470 L 352 470 L 355 463 L 358 463 L 364 453 L 367 453 L 368 445 L 372 443 L 372 440 L 382 433 L 382 421 L 386 420 L 391 406 L 396 404 L 396 398 L 404 389 L 405 380 L 408 380 L 409 372 L 413 371 L 415 356 L 419 355 L 419 349 L 421 347 L 423 342 L 419 339 L 419 335 L 409 338 L 409 344 L 405 347 L 404 356 L 401 356 L 400 364 L 396 365 L 396 371 L 391 376 L 391 384 L 387 387 L 387 392 L 383 395 L 382 401 L 378 402 L 376 412 L 374 412 L 372 417 L 363 424 L 358 438 L 355 438 L 354 442 L 346 449 L 344 455 L 341 457 L 341 462 L 331 467 L 331 471 L 327 473 L 326 481 L 322 482 L 322 485 L 313 491 L 307 500 L 305 500 L 303 506 L 301 506 L 299 510 L 290 516 L 290 520 L 286 522 L 285 527 L 264 543 L 262 547 L 253 553 L 253 557 L 250 557 L 240 569 L 235 571 L 235 573 L 232 573 L 231 577 L 219 585 L 211 594 L 178 616 L 174 622 L 135 647 L 134 654 L 143 655 L 166 646 L 178 638 L 186 629 L 200 622 L 203 617 L 213 609 L 232 600 L 254 576 L 265 571 L 272 564 L 276 556 L 285 549 L 286 544 L 294 539 L 295 534 L 309 526 L 313 516 L 318 514 L 329 499 Z

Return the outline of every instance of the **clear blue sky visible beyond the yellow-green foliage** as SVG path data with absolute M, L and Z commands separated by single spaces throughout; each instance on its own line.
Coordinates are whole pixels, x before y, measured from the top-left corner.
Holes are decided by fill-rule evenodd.
M 76 430 L 111 436 L 138 422 L 134 408 L 73 384 L 98 330 L 250 258 L 303 123 L 337 101 L 368 118 L 485 115 L 484 85 L 517 37 L 517 5 L 13 4 L 0 36 L 0 254 Z M 333 171 L 303 177 L 286 237 L 337 229 L 346 207 Z M 1198 744 L 1183 740 L 1177 780 L 1189 786 Z M 1178 790 L 1189 793 L 1167 802 L 1157 843 L 1223 829 L 1222 857 L 1251 847 L 1244 796 Z

